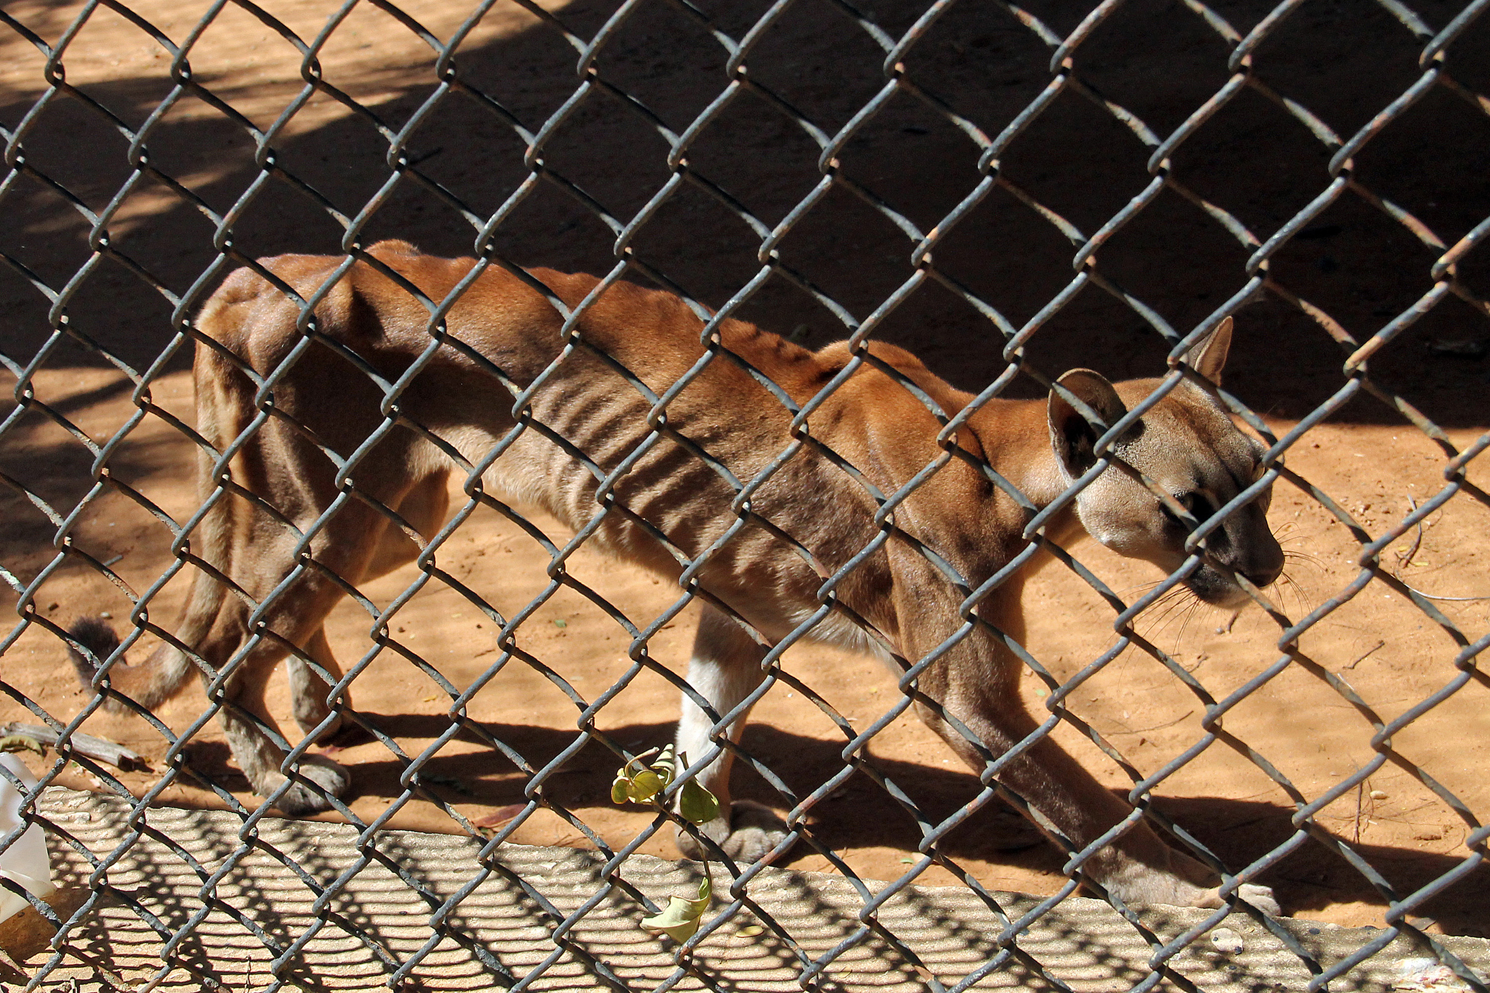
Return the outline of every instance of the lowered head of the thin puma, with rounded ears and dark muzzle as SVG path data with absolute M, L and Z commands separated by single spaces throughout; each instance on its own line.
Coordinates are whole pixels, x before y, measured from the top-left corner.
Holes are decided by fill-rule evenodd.
M 1219 384 L 1229 347 L 1228 317 L 1185 354 L 1185 362 Z M 1113 386 L 1091 369 L 1073 369 L 1058 383 L 1107 424 L 1116 424 L 1128 412 L 1128 403 L 1143 400 L 1159 384 L 1137 380 Z M 1098 432 L 1055 390 L 1049 421 L 1056 464 L 1070 482 L 1095 464 Z M 1189 381 L 1146 411 L 1113 447 L 1118 457 L 1164 487 L 1201 524 L 1258 479 L 1264 451 L 1261 442 L 1232 423 L 1214 395 Z M 1185 581 L 1205 603 L 1235 606 L 1247 600 L 1228 570 L 1256 587 L 1266 587 L 1283 572 L 1283 549 L 1266 520 L 1271 496 L 1269 487 L 1232 511 L 1205 537 L 1205 561 Z M 1129 558 L 1143 558 L 1165 572 L 1188 558 L 1185 523 L 1120 466 L 1109 466 L 1080 491 L 1076 514 L 1092 537 Z

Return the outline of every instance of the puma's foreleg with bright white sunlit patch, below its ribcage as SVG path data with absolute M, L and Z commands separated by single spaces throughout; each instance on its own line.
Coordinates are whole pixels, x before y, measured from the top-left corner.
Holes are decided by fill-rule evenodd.
M 764 651 L 745 631 L 720 610 L 705 606 L 694 636 L 693 658 L 688 662 L 688 685 L 709 701 L 714 713 L 724 716 L 738 707 L 760 686 L 764 673 L 760 660 Z M 749 710 L 736 716 L 726 737 L 738 743 L 745 729 Z M 682 718 L 678 721 L 679 755 L 697 761 L 720 747 L 711 738 L 714 718 L 706 715 L 684 694 Z M 739 863 L 755 862 L 775 849 L 787 837 L 787 823 L 769 807 L 741 799 L 732 801 L 730 770 L 735 753 L 727 747 L 720 750 L 709 765 L 699 773 L 699 785 L 720 801 L 720 816 L 702 825 L 699 832 L 724 850 Z M 693 835 L 678 831 L 678 850 L 687 858 L 706 859 L 706 846 Z

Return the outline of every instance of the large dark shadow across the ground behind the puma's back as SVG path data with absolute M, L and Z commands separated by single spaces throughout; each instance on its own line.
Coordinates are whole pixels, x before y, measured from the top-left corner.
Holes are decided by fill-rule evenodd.
M 611 6 L 578 0 L 560 18 L 583 36 Z M 1232 12 L 1250 25 L 1266 4 Z M 755 7 L 721 7 L 726 30 L 744 31 Z M 893 34 L 915 10 L 881 12 Z M 1348 134 L 1417 79 L 1417 46 L 1384 10 L 1338 18 L 1329 30 L 1295 18 L 1269 40 L 1259 74 L 1284 95 Z M 1073 10 L 1052 10 L 1058 30 Z M 1329 19 L 1329 18 L 1326 18 Z M 389 30 L 402 31 L 389 21 Z M 1162 27 L 1162 31 L 1156 28 Z M 1454 73 L 1471 89 L 1487 89 L 1490 31 L 1456 42 Z M 1132 109 L 1161 135 L 1226 79 L 1226 49 L 1199 18 L 1161 0 L 1125 4 L 1082 49 L 1083 79 Z M 536 130 L 578 85 L 575 52 L 557 31 L 536 25 L 462 49 L 460 79 Z M 1049 52 L 1030 31 L 997 9 L 960 4 L 940 18 L 906 57 L 906 71 L 985 134 L 997 134 L 1046 85 Z M 665 4 L 642 4 L 602 49 L 600 79 L 651 106 L 682 131 L 727 85 L 724 54 L 697 25 Z M 749 60 L 751 79 L 770 86 L 833 132 L 884 86 L 882 52 L 830 4 L 800 4 L 766 33 Z M 432 60 L 431 60 L 432 66 Z M 402 95 L 372 110 L 393 128 L 420 107 L 434 88 L 431 66 L 405 71 Z M 203 76 L 212 88 L 213 79 Z M 127 122 L 140 122 L 164 95 L 162 77 L 89 83 L 86 92 Z M 0 94 L 0 119 L 15 122 L 30 97 Z M 1474 177 L 1484 165 L 1483 119 L 1447 89 L 1392 124 L 1357 156 L 1354 179 L 1413 211 L 1451 244 L 1490 213 L 1490 188 Z M 1463 118 L 1465 127 L 1457 127 Z M 31 167 L 77 191 L 95 210 L 128 177 L 127 141 L 98 115 L 61 100 L 40 115 L 25 137 Z M 167 115 L 149 140 L 150 161 L 192 180 L 194 191 L 224 211 L 259 176 L 252 141 L 222 116 Z M 1432 149 L 1432 153 L 1424 153 Z M 304 180 L 346 214 L 356 214 L 389 176 L 386 140 L 362 119 L 343 116 L 276 143 L 279 168 Z M 489 109 L 463 94 L 444 100 L 414 131 L 410 156 L 432 182 L 490 216 L 529 177 L 523 141 Z M 1110 113 L 1074 92 L 1016 140 L 1000 159 L 1001 177 L 1092 232 L 1149 180 L 1150 149 Z M 630 220 L 668 180 L 666 141 L 645 118 L 596 91 L 553 131 L 544 167 L 577 183 L 621 222 Z M 745 92 L 697 137 L 688 152 L 691 174 L 736 197 L 767 225 L 779 222 L 821 179 L 820 147 L 800 128 Z M 1261 238 L 1304 207 L 1329 176 L 1331 149 L 1280 107 L 1246 92 L 1199 130 L 1174 156 L 1174 174 L 1191 189 L 1232 211 Z M 977 147 L 946 118 L 909 97 L 890 100 L 837 152 L 840 176 L 881 197 L 922 231 L 945 217 L 979 182 Z M 1477 171 L 1478 170 L 1478 171 Z M 161 195 L 146 183 L 139 194 Z M 162 208 L 119 225 L 112 249 L 137 261 L 174 293 L 185 293 L 216 256 L 212 223 L 194 207 L 165 195 Z M 0 247 L 49 284 L 61 286 L 89 258 L 85 222 L 63 198 L 25 177 L 4 201 L 7 225 Z M 143 210 L 143 207 L 142 207 Z M 282 252 L 338 252 L 341 228 L 310 198 L 271 182 L 234 229 L 234 246 L 249 256 Z M 367 225 L 362 243 L 399 237 L 446 255 L 468 253 L 475 231 L 435 194 L 405 179 Z M 757 271 L 760 237 L 730 210 L 684 183 L 632 240 L 635 258 L 668 274 L 700 301 L 724 304 Z M 498 229 L 505 258 L 524 265 L 605 271 L 614 264 L 614 232 L 551 183 L 539 183 Z M 779 259 L 863 320 L 903 284 L 912 268 L 912 241 L 873 205 L 830 191 L 778 246 Z M 994 189 L 937 244 L 936 265 L 979 293 L 1019 326 L 1065 287 L 1074 247 L 1056 229 L 1003 189 Z M 1244 283 L 1243 249 L 1220 225 L 1177 194 L 1162 194 L 1122 228 L 1101 253 L 1101 271 L 1188 332 Z M 1480 253 L 1483 256 L 1486 253 Z M 1335 316 L 1365 339 L 1404 313 L 1430 287 L 1436 252 L 1360 197 L 1347 194 L 1274 258 L 1269 277 L 1313 307 Z M 1486 262 L 1471 253 L 1459 269 L 1466 286 L 1486 296 Z M 4 331 L 4 351 L 28 359 L 48 331 L 45 301 L 16 274 L 0 277 L 0 304 L 21 316 Z M 170 307 L 146 281 L 106 262 L 76 287 L 72 326 L 142 369 L 170 339 Z M 796 331 L 809 344 L 842 338 L 846 329 L 785 280 L 754 296 L 742 316 L 778 332 Z M 912 293 L 876 331 L 910 347 L 958 386 L 979 389 L 1004 368 L 994 325 L 934 283 Z M 1448 299 L 1372 359 L 1371 375 L 1401 392 L 1447 426 L 1484 424 L 1478 396 L 1487 368 L 1468 357 L 1430 351 L 1427 342 L 1474 341 L 1483 320 Z M 1046 374 L 1092 366 L 1115 377 L 1155 374 L 1168 350 L 1135 311 L 1088 286 L 1030 342 L 1028 360 Z M 1302 417 L 1344 384 L 1345 354 L 1298 307 L 1271 296 L 1238 316 L 1238 348 L 1229 386 L 1256 409 Z M 188 360 L 185 351 L 176 365 Z M 97 365 L 101 356 L 76 342 L 49 365 Z M 1015 395 L 1034 392 L 1030 380 Z M 1347 420 L 1401 423 L 1375 400 L 1350 403 Z

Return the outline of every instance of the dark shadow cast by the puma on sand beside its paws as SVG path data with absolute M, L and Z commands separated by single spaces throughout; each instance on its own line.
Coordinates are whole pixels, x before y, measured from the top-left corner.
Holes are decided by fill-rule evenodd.
M 383 734 L 404 741 L 429 740 L 450 727 L 448 721 L 438 715 L 358 712 L 358 716 Z M 545 765 L 580 735 L 578 728 L 513 724 L 481 727 L 493 738 L 526 758 L 533 768 Z M 670 741 L 673 725 L 633 724 L 608 728 L 605 734 L 611 741 L 638 752 Z M 459 738 L 480 741 L 471 731 L 463 731 Z M 372 740 L 368 731 L 350 728 L 343 731 L 334 744 L 338 749 L 349 749 Z M 764 724 L 746 728 L 742 747 L 770 767 L 788 788 L 796 791 L 797 798 L 806 796 L 843 768 L 839 758 L 840 744 L 791 734 Z M 931 823 L 951 817 L 980 792 L 976 777 L 961 767 L 927 765 L 875 752 L 870 752 L 870 762 L 881 776 L 904 791 Z M 247 789 L 246 780 L 228 764 L 228 749 L 224 743 L 192 744 L 189 764 L 221 786 L 234 791 Z M 592 740 L 550 776 L 545 795 L 580 819 L 586 819 L 587 808 L 609 805 L 611 780 L 617 765 L 617 756 L 600 741 Z M 399 796 L 404 794 L 399 785 L 404 768 L 404 764 L 392 756 L 359 758 L 355 762 L 353 791 L 361 795 Z M 527 777 L 496 750 L 437 755 L 422 767 L 422 771 L 425 788 L 451 804 L 505 807 L 527 801 L 523 795 Z M 776 810 L 787 808 L 784 798 L 744 765 L 738 765 L 735 782 L 738 798 L 763 802 Z M 1159 796 L 1155 805 L 1232 869 L 1265 856 L 1295 834 L 1290 820 L 1293 810 L 1278 802 L 1226 796 Z M 939 850 L 954 861 L 986 859 L 1050 877 L 1058 875 L 1064 859 L 1052 846 L 1034 844 L 1016 852 L 1000 850 L 1004 835 L 989 829 L 991 817 L 986 814 L 997 816 L 1003 810 L 1007 808 L 998 801 L 991 802 L 980 811 L 985 816 L 974 814 L 949 832 Z M 921 832 L 910 813 L 861 773 L 848 779 L 842 788 L 820 802 L 808 823 L 818 844 L 834 852 L 891 847 L 909 853 L 915 852 L 921 841 Z M 1399 898 L 1416 892 L 1462 862 L 1447 855 L 1354 841 L 1353 835 L 1337 837 L 1375 866 Z M 606 838 L 606 841 L 618 847 L 627 838 Z M 812 846 L 799 844 L 781 865 L 790 868 L 808 862 L 814 853 Z M 1387 907 L 1386 898 L 1360 872 L 1313 838 L 1271 868 L 1261 881 L 1274 887 L 1284 911 L 1292 914 L 1311 914 L 1338 904 L 1365 904 L 1381 910 Z M 1490 922 L 1483 911 L 1487 887 L 1490 887 L 1490 871 L 1481 866 L 1420 905 L 1413 920 L 1421 926 L 1426 926 L 1426 920 L 1436 922 L 1433 929 L 1444 933 L 1490 936 Z

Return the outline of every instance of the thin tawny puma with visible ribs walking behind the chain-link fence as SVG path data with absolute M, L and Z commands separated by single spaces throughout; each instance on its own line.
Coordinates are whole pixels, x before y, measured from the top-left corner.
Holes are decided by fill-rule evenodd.
M 437 304 L 474 265 L 399 241 L 370 252 Z M 918 676 L 915 706 L 974 771 L 1037 728 L 1019 698 L 1021 662 L 998 636 L 1024 637 L 1028 569 L 977 603 L 977 624 L 967 624 L 974 612 L 963 604 L 1028 543 L 1022 531 L 1033 511 L 986 467 L 1044 508 L 1097 466 L 1094 445 L 1103 430 L 1059 390 L 1040 400 L 988 400 L 942 445 L 943 421 L 901 378 L 946 417 L 971 395 L 907 351 L 872 344 L 872 362 L 848 375 L 811 412 L 805 432 L 794 433 L 793 412 L 757 375 L 803 405 L 849 365 L 845 342 L 809 351 L 723 320 L 711 344 L 717 354 L 699 371 L 700 319 L 670 293 L 615 283 L 583 308 L 578 339 L 566 347 L 554 305 L 492 266 L 446 314 L 447 342 L 387 405 L 399 426 L 361 453 L 343 482 L 341 460 L 384 421 L 383 389 L 367 372 L 399 381 L 429 348 L 431 335 L 426 305 L 377 265 L 361 261 L 326 287 L 341 264 L 299 255 L 262 262 L 305 299 L 323 292 L 314 308 L 322 339 L 273 381 L 268 417 L 261 417 L 267 405 L 243 366 L 265 377 L 302 345 L 299 307 L 268 280 L 238 269 L 198 319 L 215 342 L 197 348 L 198 432 L 222 453 L 256 418 L 261 423 L 218 476 L 213 457 L 201 457 L 200 497 L 218 499 L 191 534 L 191 551 L 221 576 L 198 570 L 176 639 L 219 673 L 221 721 L 232 755 L 279 810 L 325 810 L 349 779 L 314 753 L 302 755 L 289 779 L 282 774 L 285 752 L 265 731 L 276 727 L 264 704 L 270 670 L 289 658 L 294 716 L 307 734 L 325 738 L 337 729 L 340 713 L 328 704 L 331 686 L 320 674 L 340 674 L 322 630 L 344 593 L 332 575 L 350 584 L 383 575 L 417 555 L 405 527 L 437 533 L 450 473 L 469 472 L 443 447 L 472 464 L 499 450 L 481 473 L 486 493 L 538 505 L 577 531 L 590 529 L 587 540 L 614 555 L 672 579 L 682 576 L 679 557 L 702 557 L 682 582 L 706 600 L 688 683 L 709 710 L 684 695 L 676 746 L 694 759 L 712 756 L 699 779 L 720 798 L 721 814 L 703 834 L 732 858 L 767 853 L 785 837 L 785 825 L 763 808 L 730 802 L 733 755 L 718 741 L 739 740 L 749 709 L 741 704 L 764 677 L 767 646 L 814 616 L 806 639 L 894 661 L 897 673 L 936 654 Z M 568 308 L 599 284 L 550 269 L 530 277 Z M 1229 342 L 1228 320 L 1185 360 L 1216 383 Z M 368 369 L 355 368 L 346 351 Z M 696 375 L 659 403 L 690 371 Z M 535 383 L 514 420 L 513 390 Z M 1159 381 L 1113 384 L 1074 369 L 1059 386 L 1110 426 Z M 514 438 L 519 423 L 524 429 Z M 653 435 L 648 424 L 665 433 Z M 1125 464 L 1097 475 L 1050 518 L 1046 534 L 1064 542 L 1085 530 L 1123 555 L 1173 572 L 1189 560 L 1189 527 L 1141 479 L 1204 523 L 1259 479 L 1264 448 L 1235 427 L 1211 392 L 1186 380 L 1144 411 L 1113 453 Z M 940 464 L 925 472 L 933 463 Z M 881 512 L 884 497 L 924 472 L 918 487 Z M 751 487 L 748 499 L 741 484 Z M 298 554 L 302 536 L 344 491 L 352 497 L 320 521 Z M 1283 552 L 1268 529 L 1268 490 L 1259 491 L 1210 531 L 1204 561 L 1185 579 L 1196 597 L 1241 604 L 1247 597 L 1235 576 L 1255 587 L 1278 576 Z M 368 500 L 396 509 L 401 524 Z M 861 560 L 839 575 L 857 555 Z M 954 582 L 949 570 L 961 579 Z M 818 615 L 824 601 L 830 609 Z M 949 642 L 954 634 L 961 640 Z M 79 622 L 73 637 L 98 660 L 118 646 L 100 621 Z M 92 661 L 76 649 L 73 657 L 79 676 L 95 679 Z M 115 691 L 153 707 L 194 668 L 186 652 L 165 643 L 142 665 L 112 665 L 107 679 Z M 343 695 L 338 706 L 346 704 Z M 1030 802 L 1036 820 L 1077 849 L 1132 813 L 1049 737 L 1003 765 L 998 779 Z M 681 835 L 681 847 L 703 855 L 705 846 Z M 1165 844 L 1143 819 L 1100 849 L 1085 872 L 1123 901 L 1220 905 L 1214 874 Z M 1249 883 L 1240 892 L 1255 907 L 1278 911 L 1269 889 Z

